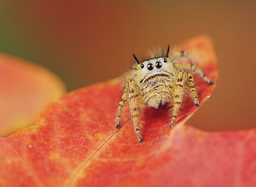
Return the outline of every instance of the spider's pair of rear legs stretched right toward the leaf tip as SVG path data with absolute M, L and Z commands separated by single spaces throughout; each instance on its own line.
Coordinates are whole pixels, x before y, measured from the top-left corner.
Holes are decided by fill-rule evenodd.
M 171 59 L 171 61 L 173 61 L 173 60 L 179 59 L 181 57 L 186 57 L 187 59 L 189 59 L 191 64 L 175 63 L 175 64 L 173 64 L 174 67 L 176 67 L 177 69 L 179 69 L 181 71 L 185 71 L 185 70 L 195 71 L 195 73 L 198 74 L 201 77 L 201 79 L 203 79 L 205 82 L 207 82 L 210 85 L 213 84 L 213 81 L 205 76 L 204 72 L 195 64 L 195 62 L 189 56 L 187 51 L 175 52 L 170 56 L 170 59 Z

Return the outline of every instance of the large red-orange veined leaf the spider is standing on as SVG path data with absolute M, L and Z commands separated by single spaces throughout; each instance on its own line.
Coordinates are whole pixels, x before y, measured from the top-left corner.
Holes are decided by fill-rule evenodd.
M 212 44 L 197 37 L 186 49 L 216 82 Z M 200 57 L 200 58 L 198 58 Z M 197 81 L 200 105 L 214 85 Z M 256 130 L 204 132 L 182 125 L 198 109 L 186 101 L 169 129 L 167 107 L 146 108 L 138 143 L 124 111 L 115 115 L 121 81 L 66 94 L 41 113 L 37 124 L 1 138 L 1 186 L 254 186 Z

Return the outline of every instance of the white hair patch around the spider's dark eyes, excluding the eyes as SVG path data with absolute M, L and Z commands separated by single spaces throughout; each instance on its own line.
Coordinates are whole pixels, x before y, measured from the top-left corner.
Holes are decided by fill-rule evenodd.
M 159 62 L 161 63 L 162 66 L 160 68 L 157 68 L 156 63 L 159 63 Z M 152 73 L 152 72 L 159 71 L 159 70 L 162 70 L 164 68 L 167 68 L 167 63 L 164 62 L 164 58 L 154 58 L 154 59 L 146 60 L 146 61 L 143 62 L 143 64 L 144 64 L 144 67 L 141 68 L 141 71 L 143 73 L 146 73 L 146 72 Z M 153 69 L 149 70 L 150 68 L 148 68 L 148 66 L 150 67 L 151 64 L 153 65 Z

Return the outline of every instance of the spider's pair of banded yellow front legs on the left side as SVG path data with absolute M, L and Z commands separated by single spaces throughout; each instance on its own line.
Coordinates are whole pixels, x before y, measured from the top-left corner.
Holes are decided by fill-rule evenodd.
M 131 112 L 134 130 L 135 130 L 135 133 L 137 135 L 139 142 L 142 142 L 142 140 L 143 140 L 142 139 L 142 127 L 143 126 L 142 126 L 141 121 L 139 120 L 139 116 L 141 114 L 140 107 L 142 105 L 142 95 L 141 95 L 140 89 L 135 81 L 130 80 L 129 82 L 127 82 L 127 84 L 125 86 L 123 97 L 122 97 L 123 99 L 127 98 L 127 100 L 129 101 L 130 112 Z M 121 118 L 121 113 L 122 113 L 121 111 L 123 108 L 123 104 L 121 102 L 123 102 L 122 99 L 121 99 L 119 107 L 118 107 L 116 128 L 118 128 L 120 126 L 120 118 Z

